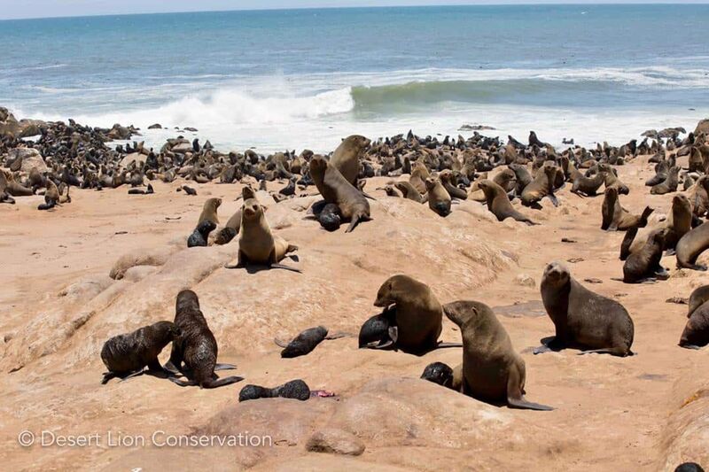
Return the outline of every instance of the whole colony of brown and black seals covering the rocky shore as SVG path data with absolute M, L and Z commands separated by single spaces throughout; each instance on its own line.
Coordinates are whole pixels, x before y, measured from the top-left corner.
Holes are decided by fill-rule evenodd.
M 89 131 L 90 128 L 82 128 L 75 123 L 70 123 L 68 127 L 56 123 L 44 126 L 46 131 L 40 128 L 43 138 L 44 133 L 66 133 L 67 131 L 61 131 L 65 127 L 72 128 L 73 133 L 79 134 L 83 131 L 76 131 L 77 129 L 86 129 L 85 134 L 89 136 L 103 133 L 96 129 Z M 3 171 L 4 178 L 0 184 L 4 186 L 0 190 L 3 199 L 21 199 L 37 195 L 36 192 L 45 189 L 45 205 L 53 207 L 61 205 L 62 186 L 64 189 L 74 186 L 102 190 L 123 185 L 140 187 L 144 185 L 144 180 L 256 183 L 261 190 L 246 192 L 247 195 L 242 196 L 241 208 L 222 228 L 218 226 L 221 221 L 217 216 L 221 200 L 206 199 L 204 212 L 199 217 L 194 233 L 188 238 L 188 245 L 193 247 L 231 244 L 235 249 L 234 253 L 238 254 L 238 267 L 254 264 L 290 269 L 292 267 L 281 267 L 280 263 L 287 253 L 296 248 L 281 236 L 277 236 L 276 233 L 280 229 L 272 229 L 282 227 L 272 227 L 269 224 L 271 213 L 266 211 L 267 205 L 261 203 L 264 197 L 273 199 L 274 203 L 271 205 L 283 205 L 284 201 L 302 195 L 316 197 L 320 201 L 316 201 L 310 209 L 313 210 L 320 226 L 330 230 L 339 228 L 340 222 L 349 224 L 345 232 L 332 235 L 322 232 L 319 235 L 331 238 L 353 238 L 357 236 L 358 225 L 377 224 L 378 212 L 381 212 L 382 206 L 370 203 L 375 200 L 363 191 L 367 179 L 372 176 L 391 179 L 387 183 L 386 195 L 377 195 L 378 199 L 400 198 L 401 204 L 406 204 L 403 208 L 420 205 L 422 211 L 432 211 L 446 218 L 458 211 L 456 203 L 466 201 L 467 203 L 461 206 L 479 205 L 483 211 L 492 213 L 495 222 L 491 224 L 506 221 L 500 228 L 510 224 L 516 225 L 515 221 L 543 226 L 547 220 L 544 213 L 539 213 L 538 210 L 542 205 L 548 205 L 545 203 L 547 200 L 552 205 L 563 208 L 570 200 L 588 201 L 595 197 L 599 203 L 604 199 L 607 199 L 608 203 L 604 205 L 599 218 L 601 225 L 596 226 L 598 230 L 593 236 L 614 236 L 602 231 L 598 226 L 627 231 L 628 238 L 632 239 L 631 243 L 639 243 L 640 248 L 633 251 L 632 244 L 627 244 L 627 270 L 624 270 L 626 282 L 651 282 L 653 279 L 665 277 L 668 272 L 659 265 L 659 258 L 664 251 L 676 252 L 678 267 L 699 270 L 703 268 L 701 261 L 697 262 L 697 259 L 709 247 L 707 230 L 703 223 L 706 216 L 706 198 L 702 191 L 705 191 L 706 179 L 702 166 L 697 164 L 697 156 L 703 157 L 701 152 L 705 148 L 705 139 L 704 134 L 690 134 L 685 139 L 674 135 L 652 142 L 646 138 L 643 143 L 630 142 L 620 147 L 599 144 L 596 149 L 587 150 L 575 146 L 565 151 L 557 151 L 549 144 L 541 142 L 535 134 L 530 135 L 528 144 L 522 144 L 511 137 L 507 143 L 503 143 L 499 138 L 487 138 L 477 134 L 467 139 L 459 136 L 457 139 L 447 137 L 439 140 L 436 137 L 420 137 L 409 133 L 372 141 L 362 139 L 362 136 L 355 137 L 339 152 L 338 159 L 334 159 L 335 154 L 330 157 L 308 151 L 302 151 L 300 154 L 285 151 L 271 156 L 261 156 L 253 150 L 243 154 L 222 154 L 208 143 L 190 143 L 188 148 L 184 143 L 186 140 L 181 138 L 171 140 L 159 152 L 144 150 L 141 143 L 110 150 L 105 148 L 105 142 L 96 143 L 96 148 L 92 148 L 93 151 L 90 152 L 86 144 L 79 140 L 74 149 L 67 152 L 62 149 L 58 152 L 59 157 L 48 157 L 45 161 L 45 165 L 49 163 L 48 169 L 40 174 L 37 174 L 37 167 L 32 167 L 29 172 L 22 170 L 18 158 L 9 159 L 8 162 L 4 157 L 4 165 L 10 170 Z M 41 139 L 40 142 L 52 149 L 51 137 L 44 141 Z M 35 149 L 30 147 L 34 144 L 7 136 L 3 140 L 5 150 L 12 146 L 15 146 L 13 150 Z M 97 149 L 102 149 L 103 152 Z M 627 165 L 638 156 L 645 155 L 651 155 L 652 159 L 658 161 L 660 171 L 667 167 L 666 175 L 659 182 L 663 187 L 656 189 L 654 186 L 658 183 L 654 183 L 651 189 L 656 190 L 648 190 L 648 195 L 656 198 L 655 202 L 658 201 L 657 198 L 664 197 L 664 201 L 671 201 L 673 204 L 671 214 L 659 216 L 654 221 L 651 221 L 651 214 L 655 211 L 650 205 L 639 215 L 627 212 L 620 205 L 619 196 L 627 195 L 628 189 L 615 174 L 616 166 Z M 691 173 L 683 174 L 682 160 L 677 159 L 688 155 L 694 156 L 694 164 Z M 106 160 L 109 156 L 112 156 L 112 159 Z M 672 166 L 669 166 L 669 162 L 662 165 L 670 160 L 673 161 Z M 356 174 L 352 172 L 353 162 L 357 164 Z M 675 171 L 678 166 L 680 171 Z M 350 178 L 353 174 L 354 178 Z M 272 189 L 277 189 L 278 186 L 271 182 L 287 182 L 287 190 L 274 191 Z M 686 190 L 681 190 L 680 183 L 685 184 L 683 188 Z M 564 193 L 563 196 L 557 197 L 558 191 L 566 185 L 573 195 Z M 601 190 L 602 187 L 605 189 Z M 27 193 L 27 189 L 30 193 Z M 201 190 L 199 194 L 204 195 Z M 76 194 L 73 194 L 73 197 L 74 200 L 78 198 Z M 175 198 L 175 201 L 179 201 L 179 194 L 175 194 Z M 186 197 L 182 198 L 187 201 Z M 202 203 L 199 196 L 191 201 L 197 205 Z M 687 205 L 690 209 L 689 218 L 685 211 Z M 677 212 L 674 212 L 675 207 Z M 456 214 L 456 217 L 461 216 L 462 213 Z M 599 215 L 594 213 L 589 218 L 597 216 Z M 563 213 L 555 216 L 562 217 Z M 443 221 L 438 217 L 436 219 Z M 223 220 L 225 218 L 222 218 Z M 312 224 L 313 234 L 322 231 L 317 228 L 315 222 L 308 224 Z M 210 240 L 210 234 L 215 229 L 219 242 L 216 238 L 214 241 Z M 639 229 L 646 231 L 641 232 Z M 354 235 L 345 234 L 353 230 Z M 619 236 L 622 235 L 616 235 L 616 238 Z M 312 248 L 313 244 L 308 240 L 295 242 L 308 249 Z M 630 313 L 631 311 L 619 302 L 589 290 L 580 279 L 577 281 L 573 277 L 573 271 L 564 264 L 551 262 L 546 268 L 539 267 L 540 272 L 542 269 L 541 299 L 551 321 L 549 329 L 554 329 L 554 337 L 545 340 L 544 347 L 536 353 L 579 349 L 584 353 L 607 353 L 619 357 L 633 354 L 631 348 L 635 340 L 634 313 Z M 284 273 L 283 276 L 298 275 Z M 457 347 L 452 351 L 456 352 L 456 356 L 460 352 L 460 365 L 449 368 L 441 362 L 435 362 L 425 368 L 422 378 L 493 405 L 533 410 L 551 409 L 526 399 L 526 378 L 527 375 L 535 375 L 534 369 L 532 372 L 527 371 L 524 359 L 515 348 L 519 341 L 510 338 L 502 323 L 497 320 L 497 315 L 483 301 L 450 301 L 457 298 L 456 294 L 439 291 L 440 280 L 435 278 L 427 281 L 430 283 L 428 285 L 409 275 L 393 275 L 387 272 L 379 280 L 383 281 L 381 287 L 377 293 L 371 293 L 369 303 L 374 300 L 373 305 L 381 308 L 382 313 L 374 316 L 370 316 L 371 313 L 362 313 L 359 347 L 395 348 L 401 352 L 421 355 L 446 344 L 455 345 Z M 634 288 L 628 287 L 627 290 Z M 442 297 L 442 293 L 446 294 L 446 297 Z M 343 292 L 342 296 L 347 297 L 347 292 Z M 479 298 L 485 298 L 483 290 Z M 709 329 L 709 317 L 706 314 L 709 311 L 705 309 L 705 302 L 697 302 L 697 297 L 694 299 L 687 327 L 681 337 L 680 333 L 677 333 L 680 345 L 692 349 L 707 343 L 706 332 Z M 462 343 L 440 342 L 441 334 L 446 338 L 453 336 L 448 331 L 443 333 L 443 314 L 460 329 L 460 338 L 450 340 Z M 147 367 L 149 373 L 167 375 L 170 381 L 180 386 L 214 388 L 239 382 L 241 377 L 220 379 L 215 375 L 215 372 L 222 369 L 234 367 L 217 362 L 217 341 L 206 322 L 206 318 L 212 320 L 210 316 L 210 313 L 205 316 L 201 312 L 196 293 L 191 290 L 181 291 L 177 294 L 174 323 L 159 321 L 129 335 L 111 337 L 106 341 L 101 353 L 109 371 L 105 381 L 113 376 L 132 378 L 144 373 L 144 368 Z M 160 315 L 160 318 L 164 316 Z M 163 328 L 152 328 L 156 326 Z M 300 329 L 303 328 L 305 327 Z M 146 334 L 149 332 L 153 334 Z M 637 336 L 642 337 L 643 333 L 638 332 Z M 284 348 L 281 356 L 292 358 L 308 355 L 326 338 L 327 329 L 323 327 L 306 329 L 290 343 L 278 342 Z M 162 368 L 158 355 L 171 342 L 173 346 L 170 361 L 166 368 Z M 343 340 L 341 343 L 348 342 Z M 318 352 L 313 355 L 320 355 L 321 349 L 325 348 L 318 348 Z M 596 356 L 590 356 L 589 361 L 596 360 Z M 622 359 L 618 361 L 627 362 Z M 425 364 L 422 364 L 421 368 L 424 366 Z M 630 363 L 627 366 L 629 369 L 633 368 Z M 309 398 L 309 388 L 302 381 L 283 383 L 284 380 L 286 379 L 274 378 L 272 383 L 264 383 L 282 383 L 281 387 L 275 389 L 249 385 L 239 397 Z M 308 379 L 308 382 L 311 380 Z M 294 393 L 290 393 L 291 391 Z M 308 395 L 305 392 L 308 392 Z M 537 397 L 534 391 L 532 397 Z M 473 400 L 465 398 L 464 401 Z

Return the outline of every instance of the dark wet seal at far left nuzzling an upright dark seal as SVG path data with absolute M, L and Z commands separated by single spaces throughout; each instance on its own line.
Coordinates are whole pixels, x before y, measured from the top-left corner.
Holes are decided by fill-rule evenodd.
M 182 330 L 172 321 L 158 321 L 132 333 L 112 337 L 101 349 L 101 360 L 108 369 L 101 383 L 108 383 L 114 377 L 125 380 L 142 375 L 145 367 L 152 374 L 167 376 L 168 371 L 160 365 L 158 355 L 181 334 Z

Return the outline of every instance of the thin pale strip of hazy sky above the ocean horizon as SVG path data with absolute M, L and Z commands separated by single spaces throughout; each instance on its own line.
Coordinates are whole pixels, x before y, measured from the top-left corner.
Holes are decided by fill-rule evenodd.
M 435 4 L 658 4 L 666 0 L 0 0 L 0 19 L 56 16 L 110 15 L 154 12 L 204 12 L 266 8 L 317 8 L 337 6 L 390 6 Z M 707 4 L 709 0 L 682 3 Z

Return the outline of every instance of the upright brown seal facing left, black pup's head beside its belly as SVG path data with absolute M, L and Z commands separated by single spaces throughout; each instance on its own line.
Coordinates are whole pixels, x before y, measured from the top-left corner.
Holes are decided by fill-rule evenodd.
M 463 337 L 461 392 L 486 402 L 549 411 L 551 406 L 525 398 L 525 361 L 514 351 L 510 336 L 489 306 L 457 301 L 443 306 Z

